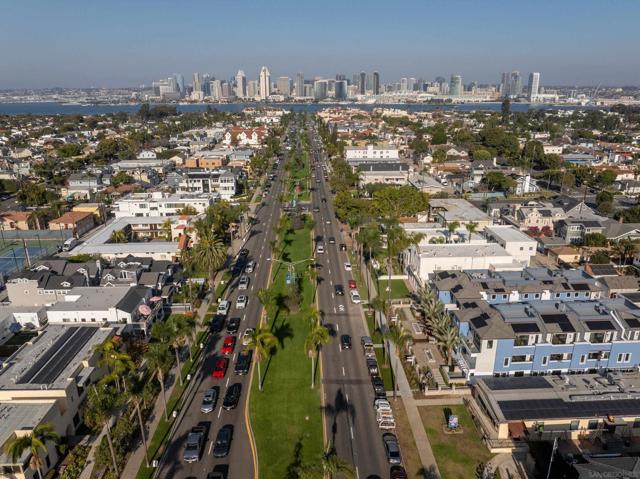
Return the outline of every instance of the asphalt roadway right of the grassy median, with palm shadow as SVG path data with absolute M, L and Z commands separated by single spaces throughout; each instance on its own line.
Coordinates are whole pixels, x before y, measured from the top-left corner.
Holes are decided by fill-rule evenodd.
M 323 156 L 319 148 L 312 149 L 315 160 L 319 160 Z M 324 253 L 317 254 L 317 263 L 321 265 L 319 277 L 322 278 L 318 302 L 324 323 L 331 325 L 335 335 L 334 340 L 322 349 L 328 439 L 340 457 L 354 464 L 357 478 L 388 477 L 382 431 L 378 429 L 373 409 L 373 388 L 360 345 L 360 338 L 367 336 L 368 331 L 361 306 L 350 300 L 348 282 L 354 278 L 344 267 L 349 259 L 346 251 L 340 251 L 340 224 L 321 166 L 316 166 L 315 175 L 320 180 L 317 183 L 312 179 L 315 188 L 312 206 L 320 209 L 314 213 L 316 235 L 323 236 L 325 247 Z M 330 237 L 336 239 L 335 244 L 329 244 Z M 344 287 L 344 296 L 335 294 L 336 284 Z M 358 284 L 357 287 L 362 290 L 365 285 Z M 343 334 L 351 336 L 352 349 L 341 350 L 340 336 Z

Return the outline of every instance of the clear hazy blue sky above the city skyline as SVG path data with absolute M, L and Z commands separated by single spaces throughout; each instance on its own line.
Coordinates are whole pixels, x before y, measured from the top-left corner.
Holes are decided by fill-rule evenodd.
M 137 86 L 180 72 L 382 82 L 452 73 L 639 85 L 637 0 L 5 0 L 0 89 Z

